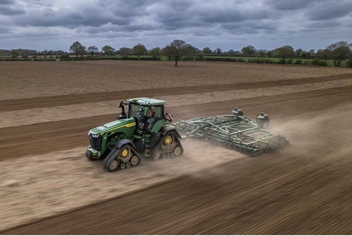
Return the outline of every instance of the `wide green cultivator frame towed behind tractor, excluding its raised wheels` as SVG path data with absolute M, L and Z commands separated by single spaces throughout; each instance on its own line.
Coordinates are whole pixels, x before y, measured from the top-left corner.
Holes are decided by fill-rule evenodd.
M 245 116 L 196 117 L 179 120 L 172 125 L 187 137 L 210 139 L 215 144 L 242 150 L 251 156 L 278 149 L 289 143 L 284 136 L 261 129 L 256 120 L 250 120 Z

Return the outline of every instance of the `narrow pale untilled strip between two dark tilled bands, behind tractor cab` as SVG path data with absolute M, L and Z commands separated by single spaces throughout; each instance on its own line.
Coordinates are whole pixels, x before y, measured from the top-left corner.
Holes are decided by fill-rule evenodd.
M 325 81 L 319 83 L 275 86 L 257 89 L 231 90 L 225 92 L 191 93 L 186 95 L 172 95 L 155 97 L 166 100 L 166 107 L 187 105 L 191 101 L 198 103 L 209 103 L 213 101 L 226 101 L 240 98 L 254 98 L 287 93 L 306 92 L 314 90 L 332 89 L 338 87 L 352 86 L 352 79 Z M 118 114 L 120 100 L 111 100 L 98 103 L 83 103 L 67 106 L 42 107 L 25 110 L 0 112 L 0 128 L 30 125 L 44 122 L 54 122 L 84 117 L 93 117 L 104 114 Z

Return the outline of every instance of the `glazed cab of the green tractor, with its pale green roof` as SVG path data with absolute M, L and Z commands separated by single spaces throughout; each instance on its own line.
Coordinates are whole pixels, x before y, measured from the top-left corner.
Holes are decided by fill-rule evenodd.
M 165 104 L 166 101 L 153 98 L 128 99 L 128 103 L 121 101 L 122 112 L 118 119 L 134 118 L 137 130 L 144 133 L 158 132 L 161 126 L 169 123 L 169 120 L 165 118 Z M 127 105 L 128 115 L 125 113 L 123 105 Z M 155 129 L 154 126 L 156 126 Z

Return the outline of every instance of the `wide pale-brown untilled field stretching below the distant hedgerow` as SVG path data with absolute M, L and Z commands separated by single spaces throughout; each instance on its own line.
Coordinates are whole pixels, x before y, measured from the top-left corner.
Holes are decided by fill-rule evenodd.
M 334 76 L 349 68 L 182 61 L 60 61 L 0 64 L 0 100 Z M 40 73 L 38 73 L 40 71 Z

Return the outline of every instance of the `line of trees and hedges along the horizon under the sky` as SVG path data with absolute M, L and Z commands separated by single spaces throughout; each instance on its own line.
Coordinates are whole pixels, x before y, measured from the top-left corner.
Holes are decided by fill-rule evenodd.
M 177 62 L 182 58 L 190 58 L 193 55 L 197 55 L 202 58 L 205 54 L 215 54 L 215 55 L 247 55 L 247 56 L 275 56 L 282 59 L 282 63 L 285 64 L 286 60 L 291 57 L 315 57 L 315 58 L 331 58 L 333 59 L 334 66 L 340 66 L 342 60 L 346 58 L 352 58 L 352 44 L 346 41 L 339 41 L 333 44 L 326 46 L 325 49 L 319 49 L 318 51 L 310 50 L 304 51 L 302 48 L 298 48 L 294 50 L 294 48 L 290 45 L 285 45 L 279 48 L 275 48 L 274 50 L 265 50 L 265 49 L 256 49 L 253 46 L 249 45 L 243 47 L 240 51 L 234 51 L 233 49 L 229 51 L 222 51 L 220 47 L 211 50 L 209 47 L 205 47 L 202 50 L 199 48 L 187 44 L 184 40 L 175 39 L 170 44 L 165 47 L 155 47 L 150 50 L 143 44 L 137 44 L 132 48 L 121 47 L 119 50 L 116 50 L 112 46 L 105 45 L 99 50 L 96 46 L 83 46 L 80 42 L 74 42 L 70 48 L 69 52 L 64 52 L 62 50 L 53 51 L 53 50 L 44 50 L 44 51 L 36 51 L 36 50 L 27 50 L 27 49 L 14 49 L 14 50 L 0 50 L 0 54 L 10 54 L 13 57 L 17 57 L 18 55 L 58 55 L 60 58 L 68 58 L 69 54 L 76 55 L 76 57 L 90 54 L 93 56 L 94 54 L 106 54 L 106 55 L 115 55 L 115 54 L 134 54 L 137 55 L 137 58 L 141 55 L 150 55 L 152 60 L 157 60 L 161 55 L 168 57 L 169 60 L 175 60 L 175 66 L 177 66 Z

